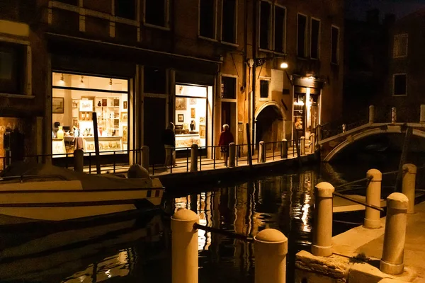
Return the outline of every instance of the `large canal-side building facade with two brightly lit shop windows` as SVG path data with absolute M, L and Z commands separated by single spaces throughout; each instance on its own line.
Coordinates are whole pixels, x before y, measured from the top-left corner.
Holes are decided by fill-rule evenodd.
M 22 55 L 9 50 L 21 75 L 3 76 L 19 87 L 1 90 L 0 122 L 23 132 L 26 155 L 94 151 L 93 112 L 105 156 L 147 145 L 151 163 L 168 122 L 183 152 L 217 145 L 223 124 L 246 144 L 309 137 L 341 115 L 342 1 L 21 2 L 1 9 L 0 28 L 16 26 L 1 47 Z

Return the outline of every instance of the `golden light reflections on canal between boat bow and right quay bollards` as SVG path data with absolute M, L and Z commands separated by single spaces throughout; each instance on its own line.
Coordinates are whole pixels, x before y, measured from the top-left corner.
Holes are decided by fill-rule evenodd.
M 221 187 L 210 192 L 169 199 L 171 211 L 192 209 L 200 224 L 244 236 L 256 236 L 267 228 L 278 229 L 289 238 L 293 260 L 300 248 L 311 243 L 312 206 L 317 174 L 268 176 L 254 182 Z M 254 248 L 250 243 L 200 230 L 198 233 L 201 282 L 251 280 L 254 272 Z M 208 273 L 217 270 L 213 277 Z M 231 273 L 237 270 L 237 277 Z M 230 276 L 230 278 L 229 278 Z M 209 279 L 209 277 L 211 277 Z

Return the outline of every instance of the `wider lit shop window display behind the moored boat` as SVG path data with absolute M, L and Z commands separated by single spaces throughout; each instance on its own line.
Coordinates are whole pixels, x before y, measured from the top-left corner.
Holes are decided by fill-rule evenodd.
M 53 73 L 52 82 L 53 154 L 75 149 L 94 152 L 93 112 L 97 115 L 99 150 L 103 154 L 125 153 L 128 80 Z M 60 143 L 64 146 L 58 146 Z

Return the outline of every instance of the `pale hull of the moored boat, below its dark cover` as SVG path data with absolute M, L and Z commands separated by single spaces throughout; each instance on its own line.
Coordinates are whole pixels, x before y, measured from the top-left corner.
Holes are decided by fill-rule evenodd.
M 83 190 L 74 181 L 0 187 L 0 225 L 66 221 L 116 214 L 161 204 L 163 187 Z M 8 217 L 7 217 L 8 216 Z

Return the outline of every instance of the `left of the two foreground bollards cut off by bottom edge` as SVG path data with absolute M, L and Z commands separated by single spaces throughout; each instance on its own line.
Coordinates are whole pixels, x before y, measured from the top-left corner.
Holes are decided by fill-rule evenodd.
M 181 209 L 171 216 L 171 269 L 173 283 L 198 282 L 198 230 L 193 225 L 199 216 Z

